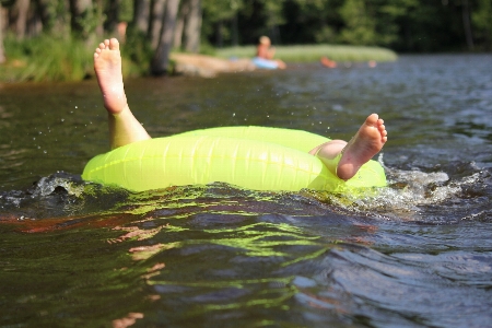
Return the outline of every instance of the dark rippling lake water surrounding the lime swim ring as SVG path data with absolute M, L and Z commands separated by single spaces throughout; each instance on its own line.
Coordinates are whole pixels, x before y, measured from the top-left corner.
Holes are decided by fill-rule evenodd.
M 492 327 L 492 56 L 126 81 L 148 131 L 259 125 L 350 139 L 365 198 L 80 180 L 108 150 L 95 81 L 0 84 L 0 327 Z

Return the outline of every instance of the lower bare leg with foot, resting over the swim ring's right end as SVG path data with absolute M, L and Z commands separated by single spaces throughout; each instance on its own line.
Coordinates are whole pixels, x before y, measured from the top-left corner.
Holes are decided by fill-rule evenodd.
M 349 142 L 332 140 L 318 145 L 309 154 L 317 155 L 328 169 L 348 180 L 383 149 L 387 134 L 384 120 L 377 114 L 371 114 Z

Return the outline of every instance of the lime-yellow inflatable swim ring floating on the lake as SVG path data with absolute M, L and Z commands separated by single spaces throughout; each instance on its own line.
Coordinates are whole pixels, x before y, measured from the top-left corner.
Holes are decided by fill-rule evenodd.
M 308 154 L 329 139 L 301 130 L 227 127 L 130 143 L 92 159 L 82 178 L 132 191 L 223 181 L 256 190 L 345 192 L 386 186 L 383 167 L 364 164 L 348 181 Z

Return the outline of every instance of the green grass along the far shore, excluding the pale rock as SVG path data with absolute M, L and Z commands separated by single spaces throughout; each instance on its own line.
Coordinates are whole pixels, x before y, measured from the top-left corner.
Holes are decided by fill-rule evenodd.
M 92 51 L 96 45 L 87 45 L 71 38 L 42 36 L 17 42 L 4 39 L 7 62 L 0 65 L 0 83 L 81 81 L 94 75 Z M 127 48 L 127 49 L 125 49 Z M 137 47 L 139 48 L 139 47 Z M 124 73 L 126 77 L 143 77 L 149 73 L 150 54 L 143 54 L 131 45 L 122 45 Z M 210 56 L 218 58 L 251 58 L 255 46 L 213 49 Z M 136 54 L 140 56 L 136 56 Z M 394 61 L 397 55 L 385 48 L 306 45 L 277 47 L 276 57 L 286 62 L 315 62 L 321 57 L 336 61 Z M 139 58 L 139 60 L 134 60 Z

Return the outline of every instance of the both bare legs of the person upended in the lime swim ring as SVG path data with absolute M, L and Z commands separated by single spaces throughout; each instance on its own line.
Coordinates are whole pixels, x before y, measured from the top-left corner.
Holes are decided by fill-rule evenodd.
M 108 114 L 112 149 L 151 139 L 130 110 L 125 94 L 121 55 L 116 38 L 105 39 L 94 51 L 94 71 Z M 331 140 L 309 151 L 340 179 L 348 180 L 376 155 L 387 141 L 383 119 L 371 114 L 349 141 Z

